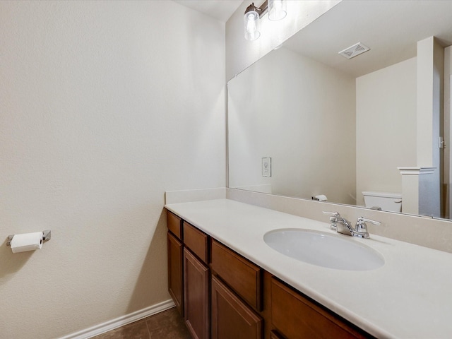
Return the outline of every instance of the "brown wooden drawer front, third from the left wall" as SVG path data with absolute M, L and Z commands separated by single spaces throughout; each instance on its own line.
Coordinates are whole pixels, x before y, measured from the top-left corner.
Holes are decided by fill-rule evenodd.
M 212 240 L 211 268 L 251 307 L 262 311 L 261 268 Z

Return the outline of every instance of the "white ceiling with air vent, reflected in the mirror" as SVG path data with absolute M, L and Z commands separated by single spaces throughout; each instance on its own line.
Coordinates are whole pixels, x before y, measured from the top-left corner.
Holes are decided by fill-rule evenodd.
M 415 57 L 417 42 L 431 36 L 452 44 L 452 1 L 345 0 L 284 47 L 357 77 Z M 357 42 L 370 51 L 353 59 L 338 54 Z

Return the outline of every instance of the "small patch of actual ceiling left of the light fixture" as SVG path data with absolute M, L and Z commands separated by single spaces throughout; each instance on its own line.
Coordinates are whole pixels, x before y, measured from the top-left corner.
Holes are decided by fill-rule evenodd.
M 243 0 L 173 0 L 195 11 L 216 18 L 223 23 L 232 16 Z M 250 0 L 251 4 L 251 0 Z

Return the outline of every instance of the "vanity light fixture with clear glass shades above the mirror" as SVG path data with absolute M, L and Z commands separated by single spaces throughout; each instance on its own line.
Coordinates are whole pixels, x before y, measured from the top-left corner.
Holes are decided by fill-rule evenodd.
M 254 3 L 246 8 L 243 24 L 246 40 L 256 40 L 261 36 L 260 18 L 266 11 L 268 11 L 269 20 L 281 20 L 285 18 L 287 14 L 286 10 L 287 0 L 266 0 L 261 7 L 254 6 Z

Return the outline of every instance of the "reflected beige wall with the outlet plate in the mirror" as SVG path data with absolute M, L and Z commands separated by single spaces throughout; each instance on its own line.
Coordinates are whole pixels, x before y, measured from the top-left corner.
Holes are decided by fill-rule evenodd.
M 230 187 L 355 204 L 355 78 L 283 47 L 230 80 L 228 97 Z

